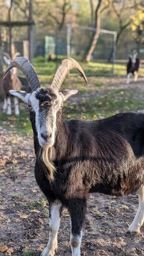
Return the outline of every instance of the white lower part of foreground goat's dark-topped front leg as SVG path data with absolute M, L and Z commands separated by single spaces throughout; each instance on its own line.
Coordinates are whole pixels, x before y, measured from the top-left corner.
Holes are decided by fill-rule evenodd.
M 71 234 L 70 241 L 71 241 L 72 256 L 80 256 L 81 255 L 82 230 L 79 235 Z

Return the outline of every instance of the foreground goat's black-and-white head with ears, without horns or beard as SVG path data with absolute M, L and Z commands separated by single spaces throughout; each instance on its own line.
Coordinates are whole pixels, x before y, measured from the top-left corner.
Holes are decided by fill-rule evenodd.
M 35 128 L 39 145 L 46 148 L 52 147 L 55 142 L 57 112 L 62 107 L 63 101 L 76 94 L 77 90 L 63 90 L 58 93 L 51 88 L 47 90 L 38 88 L 31 94 L 14 90 L 9 92 L 29 104 L 29 106 L 31 105 L 33 110 L 30 110 L 30 113 L 31 111 L 35 112 Z

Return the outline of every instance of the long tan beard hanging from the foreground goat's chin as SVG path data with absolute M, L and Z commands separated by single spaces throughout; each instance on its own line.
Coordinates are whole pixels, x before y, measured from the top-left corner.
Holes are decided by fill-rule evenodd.
M 56 151 L 53 146 L 39 149 L 39 160 L 44 164 L 45 175 L 50 182 L 54 181 L 54 172 L 56 172 L 56 167 L 54 166 L 55 158 Z

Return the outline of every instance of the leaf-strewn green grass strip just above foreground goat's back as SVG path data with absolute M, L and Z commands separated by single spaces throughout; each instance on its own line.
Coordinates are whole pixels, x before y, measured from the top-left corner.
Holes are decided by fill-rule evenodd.
M 65 103 L 63 113 L 66 119 L 102 119 L 122 111 L 143 109 L 143 99 L 139 100 L 129 90 L 115 90 L 98 99 L 91 98 L 84 103 L 71 105 Z

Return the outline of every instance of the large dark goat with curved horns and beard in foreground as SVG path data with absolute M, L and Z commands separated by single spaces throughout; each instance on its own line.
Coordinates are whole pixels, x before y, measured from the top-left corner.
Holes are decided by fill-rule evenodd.
M 35 177 L 49 202 L 50 234 L 41 256 L 53 256 L 63 207 L 71 218 L 71 250 L 80 255 L 86 200 L 90 192 L 123 196 L 137 191 L 139 208 L 130 232 L 144 221 L 144 112 L 120 113 L 103 120 L 63 119 L 63 102 L 77 90 L 60 88 L 69 71 L 81 66 L 63 60 L 49 88 L 41 88 L 26 58 L 17 57 L 5 73 L 18 67 L 31 84 L 31 93 L 16 92 L 29 105 L 35 147 Z

